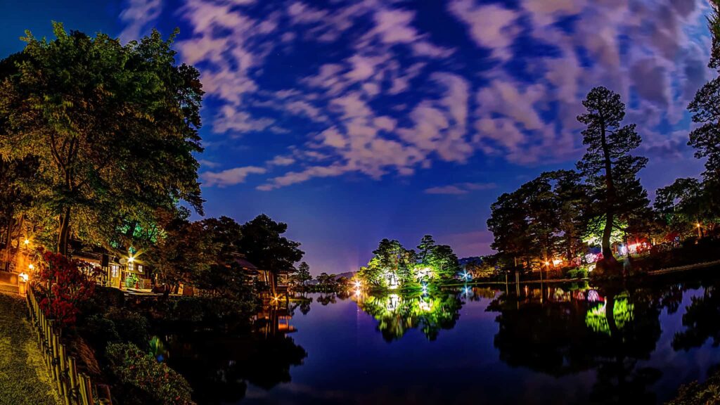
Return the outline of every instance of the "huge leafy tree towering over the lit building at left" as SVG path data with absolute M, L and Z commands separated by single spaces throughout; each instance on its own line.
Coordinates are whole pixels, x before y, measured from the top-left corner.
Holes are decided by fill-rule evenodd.
M 71 230 L 107 245 L 122 222 L 153 223 L 179 200 L 202 214 L 193 153 L 203 92 L 199 72 L 176 64 L 174 35 L 122 45 L 53 31 L 50 41 L 27 32 L 25 60 L 1 84 L 0 153 L 37 156 L 37 203 L 58 218 L 58 252 Z

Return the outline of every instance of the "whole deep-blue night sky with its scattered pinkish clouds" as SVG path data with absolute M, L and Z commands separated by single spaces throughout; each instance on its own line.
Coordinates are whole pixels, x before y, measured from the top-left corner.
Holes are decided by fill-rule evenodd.
M 287 222 L 318 274 L 355 270 L 384 237 L 490 252 L 498 195 L 582 154 L 593 86 L 628 103 L 651 195 L 696 176 L 685 107 L 711 75 L 707 13 L 703 0 L 27 0 L 0 5 L 0 56 L 51 20 L 123 41 L 179 27 L 179 61 L 207 92 L 207 215 Z

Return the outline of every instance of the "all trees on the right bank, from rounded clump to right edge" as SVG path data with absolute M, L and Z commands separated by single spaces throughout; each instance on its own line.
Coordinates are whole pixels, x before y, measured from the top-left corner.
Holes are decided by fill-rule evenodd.
M 717 7 L 708 22 L 713 34 L 708 66 L 720 74 Z M 487 226 L 501 257 L 570 260 L 582 254 L 589 242 L 602 247 L 603 267 L 617 269 L 612 246 L 628 236 L 671 241 L 716 233 L 720 223 L 720 76 L 699 89 L 688 106 L 698 124 L 688 144 L 696 149 L 698 159 L 706 159 L 705 172 L 700 179 L 677 179 L 657 190 L 652 208 L 637 177 L 647 159 L 632 154 L 642 139 L 634 124 L 623 124 L 625 104 L 620 96 L 596 87 L 582 104 L 586 112 L 577 120 L 585 125 L 582 142 L 587 151 L 577 170 L 543 173 L 492 205 Z

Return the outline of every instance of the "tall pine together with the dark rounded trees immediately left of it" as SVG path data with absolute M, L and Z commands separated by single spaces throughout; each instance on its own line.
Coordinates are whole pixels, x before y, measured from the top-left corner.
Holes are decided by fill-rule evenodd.
M 582 104 L 587 112 L 578 120 L 588 149 L 577 170 L 545 172 L 492 204 L 492 247 L 505 257 L 570 261 L 595 241 L 612 261 L 613 242 L 649 231 L 652 211 L 637 177 L 647 159 L 631 154 L 641 138 L 635 125 L 621 124 L 625 104 L 604 87 Z

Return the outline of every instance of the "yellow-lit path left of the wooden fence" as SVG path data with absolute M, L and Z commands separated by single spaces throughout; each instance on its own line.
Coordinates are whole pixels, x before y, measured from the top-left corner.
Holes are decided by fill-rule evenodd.
M 59 397 L 17 294 L 0 292 L 0 405 L 59 405 Z

